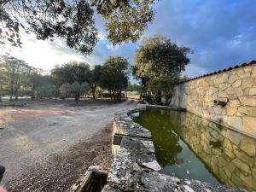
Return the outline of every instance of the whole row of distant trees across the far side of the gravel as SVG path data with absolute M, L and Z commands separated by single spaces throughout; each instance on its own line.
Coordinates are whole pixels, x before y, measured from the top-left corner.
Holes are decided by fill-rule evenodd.
M 103 65 L 90 68 L 85 62 L 70 61 L 55 66 L 49 74 L 31 67 L 25 61 L 3 56 L 0 61 L 0 99 L 1 91 L 9 95 L 9 100 L 18 100 L 26 92 L 32 99 L 45 97 L 73 97 L 75 101 L 84 95 L 95 99 L 96 90 L 107 91 L 114 100 L 121 100 L 130 75 L 130 64 L 120 56 L 110 56 Z M 3 93 L 2 93 L 3 94 Z

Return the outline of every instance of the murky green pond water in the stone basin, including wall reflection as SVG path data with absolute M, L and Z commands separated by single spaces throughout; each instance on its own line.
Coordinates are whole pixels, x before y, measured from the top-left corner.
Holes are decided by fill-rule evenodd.
M 256 141 L 193 113 L 147 109 L 131 114 L 151 131 L 162 173 L 256 189 Z

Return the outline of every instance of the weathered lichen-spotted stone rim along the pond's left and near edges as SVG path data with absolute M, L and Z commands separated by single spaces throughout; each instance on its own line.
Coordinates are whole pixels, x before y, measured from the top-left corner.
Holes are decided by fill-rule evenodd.
M 157 172 L 156 170 L 159 170 L 160 165 L 156 161 L 150 131 L 135 123 L 129 116 L 131 113 L 136 113 L 146 108 L 154 107 L 138 105 L 137 108 L 115 114 L 113 135 L 119 134 L 119 132 L 115 131 L 121 131 L 123 137 L 119 150 L 113 157 L 113 163 L 108 172 L 107 185 L 102 189 L 102 192 L 246 192 L 244 189 L 205 183 L 193 179 L 180 179 Z M 156 106 L 155 108 L 162 107 Z M 183 110 L 173 107 L 171 109 Z

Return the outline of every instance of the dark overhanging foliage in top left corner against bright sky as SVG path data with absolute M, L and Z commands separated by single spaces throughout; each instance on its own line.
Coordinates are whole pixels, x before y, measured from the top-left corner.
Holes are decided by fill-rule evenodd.
M 16 17 L 15 15 L 19 15 Z M 94 11 L 85 0 L 3 0 L 0 20 L 8 34 L 0 31 L 0 38 L 21 45 L 20 27 L 34 32 L 38 39 L 65 39 L 68 47 L 90 54 L 97 41 Z M 26 21 L 26 25 L 22 25 Z

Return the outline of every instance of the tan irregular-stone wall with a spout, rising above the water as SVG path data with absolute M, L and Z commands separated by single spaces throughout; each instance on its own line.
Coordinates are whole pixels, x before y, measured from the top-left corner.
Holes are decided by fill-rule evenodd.
M 256 65 L 177 84 L 171 105 L 256 136 Z

